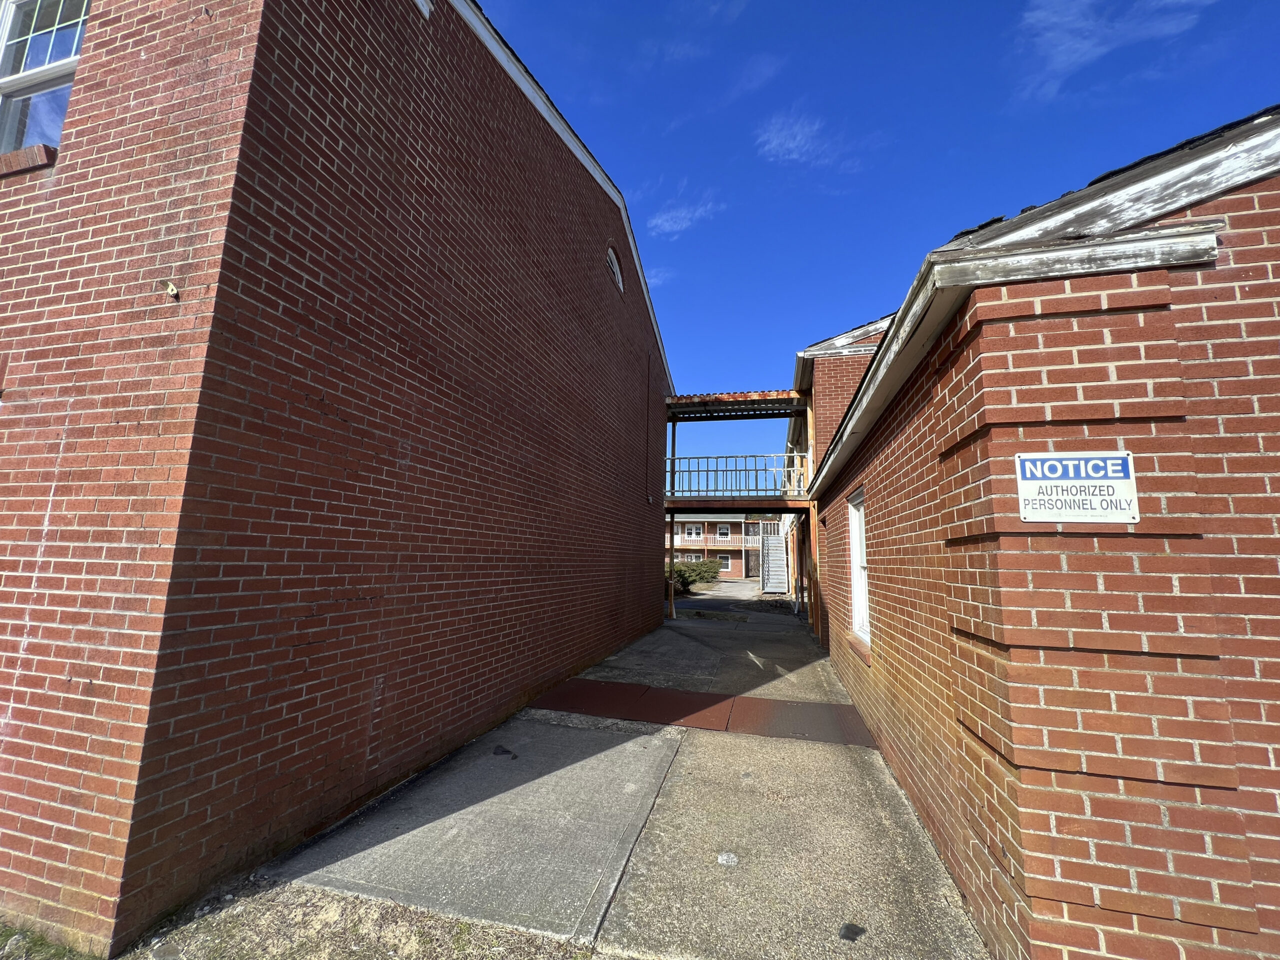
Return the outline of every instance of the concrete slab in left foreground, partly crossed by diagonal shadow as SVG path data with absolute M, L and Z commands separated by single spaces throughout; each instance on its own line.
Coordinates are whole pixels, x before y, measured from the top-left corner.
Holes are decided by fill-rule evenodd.
M 590 942 L 677 745 L 512 719 L 269 873 Z

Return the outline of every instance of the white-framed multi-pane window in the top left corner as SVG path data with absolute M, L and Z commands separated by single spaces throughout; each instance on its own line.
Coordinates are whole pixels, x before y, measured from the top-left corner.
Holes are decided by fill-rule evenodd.
M 0 154 L 63 140 L 88 0 L 0 0 Z

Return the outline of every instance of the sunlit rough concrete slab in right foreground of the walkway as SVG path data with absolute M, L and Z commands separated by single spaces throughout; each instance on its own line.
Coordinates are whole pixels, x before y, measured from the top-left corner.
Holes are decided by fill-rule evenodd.
M 671 960 L 987 957 L 877 751 L 698 730 L 596 948 Z

